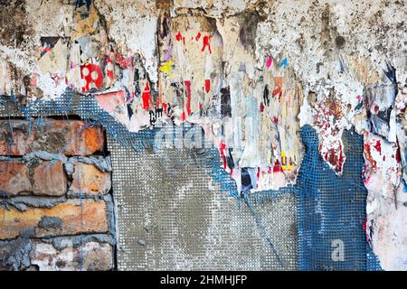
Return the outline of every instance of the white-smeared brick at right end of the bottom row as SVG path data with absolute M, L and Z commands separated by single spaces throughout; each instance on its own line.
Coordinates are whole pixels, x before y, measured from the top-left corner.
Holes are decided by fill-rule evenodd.
M 62 242 L 66 244 L 70 240 Z M 113 268 L 113 247 L 106 243 L 86 242 L 57 249 L 52 244 L 37 241 L 31 263 L 40 271 L 106 271 Z

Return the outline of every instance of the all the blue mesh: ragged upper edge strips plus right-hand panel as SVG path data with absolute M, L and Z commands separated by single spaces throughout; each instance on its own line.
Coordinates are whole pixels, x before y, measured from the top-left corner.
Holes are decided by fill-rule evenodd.
M 43 117 L 70 114 L 91 119 L 101 124 L 120 144 L 135 150 L 154 148 L 158 128 L 129 133 L 113 117 L 101 109 L 91 97 L 72 94 L 68 90 L 56 101 L 37 101 L 28 107 L 18 107 L 14 98 L 1 98 L 0 111 L 7 115 Z M 168 131 L 167 133 L 174 133 Z M 336 176 L 317 152 L 317 134 L 311 126 L 300 131 L 306 154 L 294 186 L 279 191 L 262 191 L 241 196 L 234 181 L 223 172 L 215 148 L 208 149 L 202 165 L 210 168 L 222 191 L 250 202 L 261 202 L 291 193 L 297 200 L 298 269 L 299 270 L 380 270 L 381 267 L 364 237 L 365 199 L 362 170 L 363 138 L 353 131 L 345 131 L 345 167 L 341 177 Z M 253 212 L 255 214 L 255 212 Z M 332 258 L 332 242 L 344 244 L 344 261 Z

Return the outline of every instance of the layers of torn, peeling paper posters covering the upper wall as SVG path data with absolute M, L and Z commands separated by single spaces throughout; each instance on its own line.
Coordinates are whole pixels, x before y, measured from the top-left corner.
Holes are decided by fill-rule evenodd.
M 71 88 L 130 132 L 202 126 L 245 193 L 296 182 L 305 125 L 341 175 L 342 135 L 355 126 L 365 186 L 379 193 L 367 218 L 385 235 L 371 243 L 393 268 L 380 240 L 394 231 L 380 212 L 405 216 L 384 198 L 400 201 L 406 181 L 406 10 L 384 0 L 9 1 L 0 93 L 29 103 Z

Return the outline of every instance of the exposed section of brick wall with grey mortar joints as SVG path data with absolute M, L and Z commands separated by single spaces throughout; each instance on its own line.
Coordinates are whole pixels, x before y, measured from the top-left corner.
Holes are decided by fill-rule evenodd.
M 80 120 L 0 119 L 0 270 L 114 269 L 104 145 Z

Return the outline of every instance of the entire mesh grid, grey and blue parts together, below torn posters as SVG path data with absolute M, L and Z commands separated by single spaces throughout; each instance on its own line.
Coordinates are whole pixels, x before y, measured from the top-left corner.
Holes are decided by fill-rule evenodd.
M 282 269 L 266 241 L 270 238 L 284 269 L 380 269 L 362 228 L 366 191 L 360 135 L 345 132 L 345 168 L 337 177 L 317 154 L 315 131 L 303 126 L 307 154 L 298 183 L 243 201 L 215 149 L 157 151 L 153 142 L 159 129 L 128 133 L 94 98 L 68 90 L 57 101 L 29 107 L 19 107 L 14 98 L 0 99 L 2 117 L 71 114 L 101 124 L 110 136 L 118 244 L 123 244 L 119 268 Z M 149 170 L 150 163 L 155 170 Z M 332 259 L 332 242 L 338 239 L 344 261 Z

